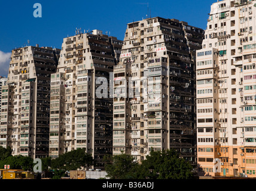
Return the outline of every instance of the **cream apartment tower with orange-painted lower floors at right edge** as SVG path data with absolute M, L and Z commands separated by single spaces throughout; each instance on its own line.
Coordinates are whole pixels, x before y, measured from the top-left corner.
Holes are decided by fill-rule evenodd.
M 256 1 L 211 5 L 197 51 L 199 175 L 256 177 Z

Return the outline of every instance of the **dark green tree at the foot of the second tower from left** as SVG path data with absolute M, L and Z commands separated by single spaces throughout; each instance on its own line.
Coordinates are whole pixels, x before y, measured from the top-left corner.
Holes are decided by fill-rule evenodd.
M 92 155 L 86 153 L 86 150 L 79 148 L 71 152 L 64 153 L 51 161 L 51 169 L 62 169 L 66 171 L 77 170 L 81 167 L 93 165 Z

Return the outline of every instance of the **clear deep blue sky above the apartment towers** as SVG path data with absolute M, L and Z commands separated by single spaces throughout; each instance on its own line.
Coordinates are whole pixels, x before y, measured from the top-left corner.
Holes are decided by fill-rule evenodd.
M 60 48 L 63 38 L 75 35 L 76 27 L 82 31 L 108 31 L 123 40 L 127 23 L 147 17 L 147 4 L 151 17 L 183 20 L 205 29 L 214 2 L 217 0 L 1 0 L 0 67 L 1 52 L 10 53 L 13 48 L 27 45 L 28 39 L 31 45 Z M 33 17 L 35 3 L 42 5 L 42 18 Z

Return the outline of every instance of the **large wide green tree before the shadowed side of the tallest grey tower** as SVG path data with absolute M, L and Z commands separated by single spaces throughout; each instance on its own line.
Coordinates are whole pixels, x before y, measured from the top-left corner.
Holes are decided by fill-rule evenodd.
M 175 150 L 151 151 L 142 161 L 137 178 L 189 179 L 193 178 L 193 167 L 180 158 Z

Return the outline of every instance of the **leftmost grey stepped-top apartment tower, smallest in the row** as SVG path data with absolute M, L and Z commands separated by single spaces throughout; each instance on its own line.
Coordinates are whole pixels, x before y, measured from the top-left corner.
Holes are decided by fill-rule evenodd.
M 48 156 L 50 74 L 60 50 L 36 45 L 11 52 L 7 84 L 1 90 L 0 146 L 12 155 Z

